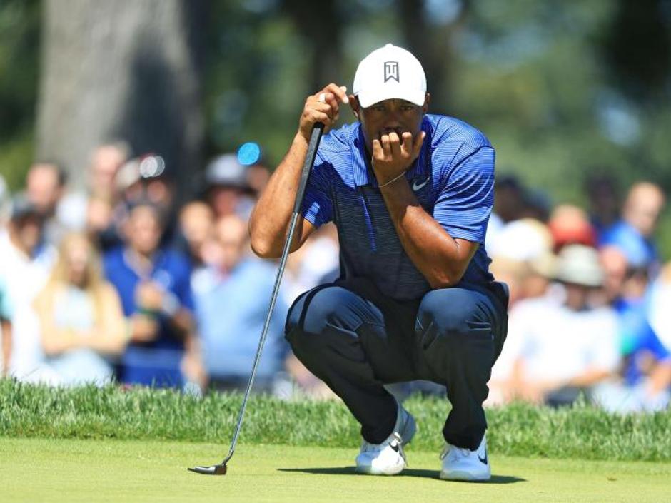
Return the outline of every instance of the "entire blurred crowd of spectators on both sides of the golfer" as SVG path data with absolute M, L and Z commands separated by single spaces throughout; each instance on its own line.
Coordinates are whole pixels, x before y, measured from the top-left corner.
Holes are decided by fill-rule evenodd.
M 241 390 L 276 277 L 253 256 L 247 220 L 268 181 L 262 163 L 213 159 L 196 198 L 178 201 L 160 156 L 100 146 L 71 188 L 36 163 L 20 193 L 0 178 L 0 363 L 51 385 Z M 667 407 L 671 390 L 671 265 L 655 246 L 665 195 L 590 178 L 588 208 L 552 205 L 513 176 L 495 185 L 486 247 L 510 286 L 508 340 L 489 405 L 564 405 L 583 395 L 608 410 Z M 338 275 L 333 225 L 288 260 L 256 389 L 330 392 L 288 350 L 283 323 L 300 293 Z M 399 395 L 440 387 L 411 383 Z

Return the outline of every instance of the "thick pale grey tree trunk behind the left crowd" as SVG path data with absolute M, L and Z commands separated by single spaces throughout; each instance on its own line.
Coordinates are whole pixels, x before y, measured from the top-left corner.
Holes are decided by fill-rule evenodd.
M 203 0 L 46 0 L 37 153 L 86 184 L 91 151 L 156 152 L 178 188 L 201 165 Z M 181 195 L 184 195 L 183 193 Z

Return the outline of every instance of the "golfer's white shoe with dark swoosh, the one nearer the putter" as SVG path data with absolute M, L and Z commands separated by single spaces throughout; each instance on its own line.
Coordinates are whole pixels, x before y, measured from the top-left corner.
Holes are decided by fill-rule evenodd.
M 356 457 L 356 471 L 369 475 L 399 474 L 406 466 L 403 447 L 413 440 L 416 431 L 415 418 L 399 403 L 393 432 L 381 444 L 363 441 Z

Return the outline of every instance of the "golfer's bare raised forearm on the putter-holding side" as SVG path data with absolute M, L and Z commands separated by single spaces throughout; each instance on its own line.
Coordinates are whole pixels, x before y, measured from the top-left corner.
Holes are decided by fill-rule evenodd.
M 297 134 L 252 211 L 249 220 L 251 246 L 261 257 L 273 258 L 281 254 L 307 151 L 308 142 Z M 301 225 L 302 219 L 299 219 L 292 251 L 300 243 Z

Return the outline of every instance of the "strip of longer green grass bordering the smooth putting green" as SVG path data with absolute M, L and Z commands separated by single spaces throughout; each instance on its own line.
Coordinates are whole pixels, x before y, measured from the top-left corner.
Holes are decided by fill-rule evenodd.
M 53 389 L 0 381 L 0 435 L 6 437 L 219 442 L 233 434 L 241 395 L 191 397 L 119 387 Z M 413 397 L 418 420 L 411 449 L 438 452 L 449 410 L 438 398 Z M 610 415 L 587 405 L 562 410 L 516 404 L 488 411 L 490 449 L 528 457 L 671 461 L 671 411 Z M 252 397 L 241 442 L 357 447 L 358 425 L 341 402 Z

